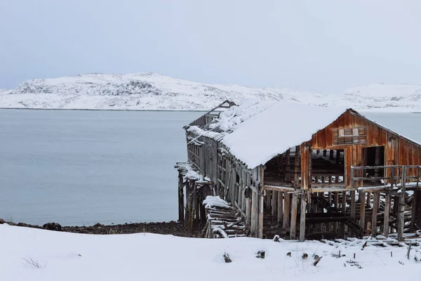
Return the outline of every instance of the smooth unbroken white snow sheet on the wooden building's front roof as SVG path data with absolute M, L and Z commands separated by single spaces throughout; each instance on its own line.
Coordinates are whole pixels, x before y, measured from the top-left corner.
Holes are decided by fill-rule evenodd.
M 272 103 L 237 125 L 235 131 L 222 138 L 222 143 L 249 168 L 254 168 L 309 141 L 313 133 L 335 121 L 345 110 L 286 101 Z

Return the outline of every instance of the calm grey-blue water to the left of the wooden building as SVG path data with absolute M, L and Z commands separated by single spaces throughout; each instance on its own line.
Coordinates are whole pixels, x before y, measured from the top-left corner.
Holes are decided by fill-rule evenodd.
M 178 218 L 182 126 L 201 112 L 0 110 L 0 218 L 62 225 Z

